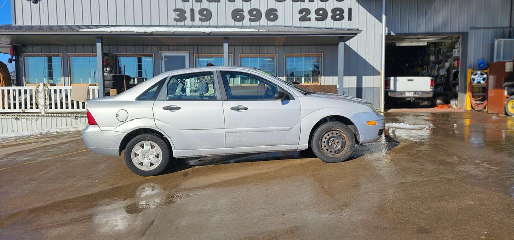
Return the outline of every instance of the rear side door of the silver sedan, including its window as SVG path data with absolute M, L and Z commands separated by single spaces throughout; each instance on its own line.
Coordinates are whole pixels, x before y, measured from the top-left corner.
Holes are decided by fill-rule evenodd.
M 171 76 L 153 113 L 155 125 L 170 136 L 174 150 L 225 147 L 223 104 L 212 71 Z

